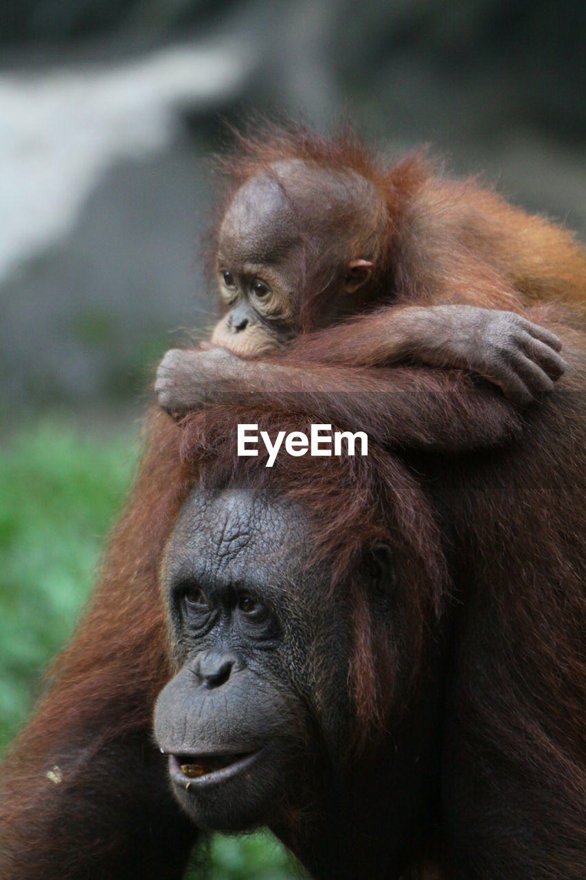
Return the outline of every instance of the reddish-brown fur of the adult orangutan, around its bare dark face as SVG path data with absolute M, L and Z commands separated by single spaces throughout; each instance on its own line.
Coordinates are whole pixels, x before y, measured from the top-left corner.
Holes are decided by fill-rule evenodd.
M 40 866 L 46 877 L 92 876 L 100 847 L 124 852 L 123 829 L 92 847 L 71 839 L 74 813 L 86 815 L 90 827 L 95 821 L 92 763 L 77 768 L 77 778 L 65 774 L 62 786 L 46 781 L 45 772 L 55 750 L 76 743 L 84 731 L 98 754 L 133 730 L 143 731 L 143 749 L 151 747 L 152 700 L 167 675 L 157 568 L 179 503 L 194 480 L 252 485 L 293 497 L 308 511 L 318 553 L 332 571 L 329 589 L 349 590 L 355 604 L 350 686 L 356 754 L 363 744 L 368 754 L 385 737 L 389 715 L 400 719 L 402 707 L 425 680 L 430 631 L 438 621 L 445 621 L 447 632 L 456 627 L 455 667 L 448 679 L 454 728 L 446 758 L 450 779 L 458 778 L 460 761 L 466 778 L 473 774 L 473 763 L 472 769 L 466 763 L 472 750 L 473 759 L 493 762 L 494 778 L 505 788 L 519 773 L 528 788 L 523 783 L 521 795 L 514 791 L 515 810 L 501 814 L 502 804 L 496 809 L 490 791 L 480 787 L 479 803 L 497 815 L 496 830 L 494 821 L 482 825 L 475 804 L 468 803 L 465 814 L 472 814 L 474 823 L 469 837 L 458 838 L 458 816 L 438 818 L 440 843 L 431 854 L 427 847 L 421 851 L 421 860 L 443 863 L 452 878 L 471 858 L 486 858 L 491 877 L 581 876 L 586 411 L 578 354 L 584 342 L 568 326 L 555 325 L 551 312 L 539 317 L 548 317 L 563 333 L 575 364 L 559 392 L 528 417 L 524 439 L 502 451 L 414 459 L 411 452 L 397 458 L 372 444 L 368 458 L 277 458 L 268 470 L 262 458 L 236 458 L 236 424 L 256 421 L 271 433 L 306 426 L 284 408 L 211 407 L 193 414 L 183 432 L 165 416 L 154 417 L 150 451 L 114 533 L 96 597 L 4 766 L 0 815 L 9 854 L 0 864 L 7 880 L 40 876 Z M 433 393 L 434 371 L 412 371 L 421 388 L 429 379 Z M 458 389 L 457 379 L 454 393 L 472 412 L 478 400 Z M 457 422 L 452 430 L 458 434 Z M 448 530 L 444 517 L 452 524 Z M 352 575 L 365 549 L 379 541 L 392 547 L 404 586 L 397 600 L 400 619 L 389 620 L 382 630 Z M 450 600 L 454 590 L 457 605 Z M 123 801 L 124 778 L 112 779 L 109 786 L 111 798 Z M 525 832 L 531 846 L 524 845 Z M 472 856 L 467 847 L 473 848 Z M 70 856 L 63 862 L 65 851 Z M 416 876 L 417 852 L 410 858 Z M 494 872 L 495 859 L 502 874 Z

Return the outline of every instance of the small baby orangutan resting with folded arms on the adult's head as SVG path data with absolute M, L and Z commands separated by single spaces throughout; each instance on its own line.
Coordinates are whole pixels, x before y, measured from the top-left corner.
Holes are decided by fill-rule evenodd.
M 251 392 L 267 405 L 358 392 L 363 409 L 397 363 L 467 371 L 518 407 L 553 389 L 560 341 L 524 312 L 583 303 L 570 233 L 421 155 L 385 169 L 354 136 L 271 128 L 243 144 L 217 235 L 225 314 L 211 343 L 158 370 L 174 417 Z M 309 412 L 348 415 L 331 400 Z

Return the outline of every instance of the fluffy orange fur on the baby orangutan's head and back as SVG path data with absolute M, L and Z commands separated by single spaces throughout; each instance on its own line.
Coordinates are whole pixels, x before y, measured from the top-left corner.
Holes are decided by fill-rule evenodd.
M 220 162 L 229 180 L 223 209 L 246 180 L 287 158 L 356 172 L 374 184 L 388 213 L 376 261 L 377 297 L 515 312 L 536 300 L 579 306 L 586 300 L 586 253 L 571 232 L 513 207 L 476 179 L 450 180 L 421 151 L 390 165 L 349 127 L 326 137 L 269 124 L 235 138 L 236 149 Z M 304 332 L 319 319 L 329 269 L 305 268 L 297 304 Z

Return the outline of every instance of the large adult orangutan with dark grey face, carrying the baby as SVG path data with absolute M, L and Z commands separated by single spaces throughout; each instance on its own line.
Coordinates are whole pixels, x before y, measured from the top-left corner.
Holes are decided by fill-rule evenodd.
M 236 423 L 307 417 L 233 404 L 179 431 L 160 414 L 4 766 L 5 880 L 179 878 L 196 825 L 266 821 L 317 878 L 583 876 L 586 347 L 535 319 L 568 370 L 501 447 L 416 451 L 414 423 L 397 453 L 269 470 L 236 457 Z M 395 373 L 436 394 L 435 370 Z M 469 422 L 501 403 L 447 378 Z M 173 672 L 162 755 L 150 715 Z

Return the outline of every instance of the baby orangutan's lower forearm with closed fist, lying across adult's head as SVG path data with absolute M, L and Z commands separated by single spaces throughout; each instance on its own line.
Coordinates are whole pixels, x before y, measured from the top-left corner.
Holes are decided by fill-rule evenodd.
M 175 418 L 229 402 L 282 408 L 313 422 L 365 431 L 395 447 L 465 451 L 519 436 L 516 410 L 490 387 L 443 370 L 307 367 L 274 360 L 243 361 L 223 348 L 172 349 L 157 376 L 159 402 Z

